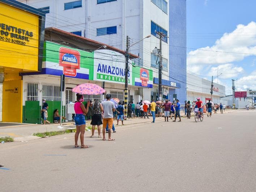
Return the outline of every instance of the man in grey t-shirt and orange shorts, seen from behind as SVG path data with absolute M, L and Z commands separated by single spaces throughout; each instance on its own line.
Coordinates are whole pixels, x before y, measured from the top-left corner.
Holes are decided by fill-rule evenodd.
M 108 140 L 115 140 L 111 138 L 111 130 L 112 130 L 113 118 L 114 118 L 113 112 L 116 110 L 116 108 L 115 108 L 115 104 L 110 101 L 111 94 L 108 93 L 106 95 L 106 99 L 107 101 L 102 103 L 102 107 L 103 107 L 103 139 L 102 140 L 106 140 L 105 131 L 106 131 L 107 125 L 108 125 Z

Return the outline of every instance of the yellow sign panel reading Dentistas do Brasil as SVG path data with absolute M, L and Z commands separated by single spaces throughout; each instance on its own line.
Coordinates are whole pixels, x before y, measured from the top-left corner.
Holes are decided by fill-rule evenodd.
M 37 71 L 38 44 L 39 16 L 0 2 L 0 65 Z

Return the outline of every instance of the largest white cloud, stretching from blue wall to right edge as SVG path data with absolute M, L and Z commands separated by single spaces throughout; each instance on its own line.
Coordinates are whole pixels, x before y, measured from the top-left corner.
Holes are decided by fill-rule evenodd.
M 239 24 L 231 33 L 223 34 L 220 39 L 216 40 L 213 46 L 206 46 L 200 49 L 189 52 L 187 58 L 188 65 L 224 64 L 234 61 L 241 61 L 245 57 L 251 55 L 236 53 L 256 54 L 256 23 L 251 22 L 247 25 Z

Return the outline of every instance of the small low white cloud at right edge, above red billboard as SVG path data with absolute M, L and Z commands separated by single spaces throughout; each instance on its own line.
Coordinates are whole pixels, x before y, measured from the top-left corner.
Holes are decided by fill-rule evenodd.
M 247 88 L 256 90 L 256 70 L 252 71 L 248 76 L 241 77 L 237 80 L 236 90 L 242 91 Z

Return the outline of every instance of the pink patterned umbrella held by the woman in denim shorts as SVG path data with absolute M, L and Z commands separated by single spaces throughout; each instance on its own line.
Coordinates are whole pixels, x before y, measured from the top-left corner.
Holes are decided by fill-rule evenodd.
M 75 88 L 72 89 L 72 91 L 75 93 L 87 94 L 87 95 L 98 95 L 106 92 L 100 86 L 92 83 L 77 85 Z

